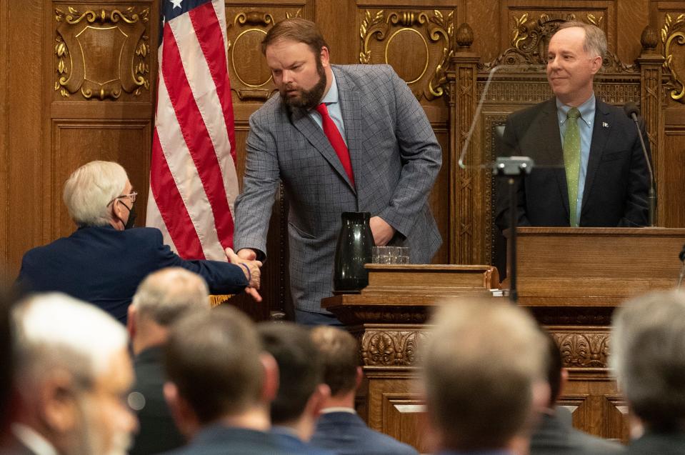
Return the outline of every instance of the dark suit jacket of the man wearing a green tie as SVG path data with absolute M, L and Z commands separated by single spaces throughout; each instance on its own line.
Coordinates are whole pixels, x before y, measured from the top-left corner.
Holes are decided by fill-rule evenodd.
M 643 136 L 646 138 L 644 129 Z M 649 141 L 645 140 L 649 152 Z M 556 98 L 509 116 L 502 154 L 531 156 L 536 167 L 516 184 L 519 226 L 569 226 L 569 190 Z M 647 224 L 649 171 L 634 121 L 596 100 L 580 226 Z M 509 227 L 509 194 L 498 184 L 496 224 Z

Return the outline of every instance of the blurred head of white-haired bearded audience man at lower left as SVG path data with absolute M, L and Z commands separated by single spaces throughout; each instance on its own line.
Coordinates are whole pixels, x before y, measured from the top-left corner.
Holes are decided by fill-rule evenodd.
M 63 294 L 38 294 L 12 311 L 19 430 L 59 454 L 125 454 L 136 419 L 124 327 Z M 16 431 L 21 439 L 21 431 Z

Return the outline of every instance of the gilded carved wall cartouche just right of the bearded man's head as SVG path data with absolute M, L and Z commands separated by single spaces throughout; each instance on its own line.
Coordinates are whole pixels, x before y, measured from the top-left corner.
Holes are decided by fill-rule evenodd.
M 446 70 L 454 54 L 454 9 L 366 9 L 359 38 L 359 63 L 392 65 L 419 100 L 444 95 Z

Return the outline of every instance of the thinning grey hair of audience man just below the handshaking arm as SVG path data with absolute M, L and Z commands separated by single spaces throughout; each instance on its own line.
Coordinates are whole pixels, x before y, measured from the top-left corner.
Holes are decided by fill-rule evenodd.
M 209 311 L 211 308 L 206 281 L 181 267 L 170 267 L 149 274 L 138 286 L 132 305 L 139 315 L 161 326 L 171 325 L 186 311 Z

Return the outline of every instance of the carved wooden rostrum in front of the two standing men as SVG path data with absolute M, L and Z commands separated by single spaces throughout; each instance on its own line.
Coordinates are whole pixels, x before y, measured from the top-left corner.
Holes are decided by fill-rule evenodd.
M 561 348 L 569 383 L 559 401 L 574 426 L 627 441 L 627 406 L 607 369 L 611 313 L 649 289 L 668 289 L 680 270 L 685 229 L 521 228 L 519 305 L 528 308 Z M 501 299 L 490 266 L 367 265 L 360 294 L 322 301 L 360 342 L 366 376 L 359 414 L 371 428 L 429 449 L 421 439 L 416 353 L 431 309 L 445 297 Z

